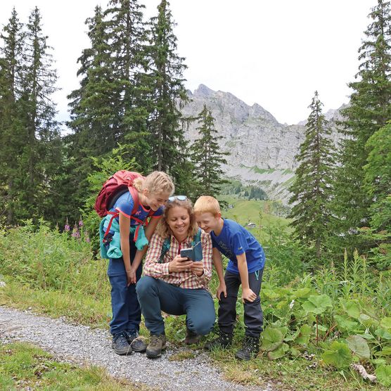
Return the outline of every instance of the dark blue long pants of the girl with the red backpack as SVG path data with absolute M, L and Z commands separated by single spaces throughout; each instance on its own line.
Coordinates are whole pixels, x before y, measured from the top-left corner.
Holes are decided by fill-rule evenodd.
M 136 255 L 133 239 L 130 241 L 131 262 Z M 141 277 L 143 264 L 136 271 L 137 280 Z M 110 333 L 113 335 L 122 331 L 137 331 L 140 329 L 141 309 L 136 295 L 136 284 L 127 286 L 127 274 L 122 258 L 110 258 L 108 278 L 111 284 L 111 309 L 113 319 L 110 322 Z

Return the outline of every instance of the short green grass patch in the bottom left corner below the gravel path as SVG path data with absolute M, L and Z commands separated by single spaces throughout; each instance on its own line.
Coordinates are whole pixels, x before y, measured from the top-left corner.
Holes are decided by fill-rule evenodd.
M 0 345 L 0 389 L 120 391 L 148 388 L 117 380 L 98 366 L 80 368 L 56 361 L 51 354 L 27 343 Z

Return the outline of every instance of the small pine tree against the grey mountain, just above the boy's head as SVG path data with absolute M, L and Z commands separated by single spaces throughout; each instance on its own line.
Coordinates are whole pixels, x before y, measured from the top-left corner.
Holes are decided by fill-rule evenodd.
M 194 177 L 199 184 L 196 196 L 215 197 L 222 184 L 226 183 L 226 180 L 222 179 L 224 171 L 221 166 L 226 165 L 224 156 L 229 153 L 222 152 L 219 148 L 217 141 L 223 137 L 217 136 L 214 118 L 205 104 L 196 120 L 200 124 L 197 128 L 200 138 L 191 145 L 191 160 L 195 165 Z

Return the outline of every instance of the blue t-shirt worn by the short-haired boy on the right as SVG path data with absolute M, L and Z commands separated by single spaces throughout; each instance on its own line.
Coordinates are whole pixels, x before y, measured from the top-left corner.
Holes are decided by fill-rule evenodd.
M 249 273 L 263 269 L 265 259 L 262 245 L 240 224 L 230 219 L 224 219 L 223 229 L 219 236 L 216 236 L 213 231 L 210 236 L 213 247 L 229 258 L 227 271 L 239 274 L 236 255 L 241 255 L 243 252 L 245 252 Z

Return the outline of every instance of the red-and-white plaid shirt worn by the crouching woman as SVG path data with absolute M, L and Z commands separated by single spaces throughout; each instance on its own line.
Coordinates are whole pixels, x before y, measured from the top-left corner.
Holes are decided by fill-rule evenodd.
M 191 248 L 191 241 L 193 238 L 188 237 L 181 244 L 181 248 Z M 207 284 L 212 278 L 212 239 L 210 235 L 202 231 L 201 243 L 203 245 L 203 262 L 204 273 L 198 277 L 192 271 L 181 271 L 169 273 L 169 262 L 179 254 L 179 242 L 171 236 L 171 243 L 169 250 L 166 252 L 162 263 L 159 263 L 160 255 L 162 254 L 162 245 L 165 239 L 158 233 L 154 233 L 148 245 L 148 252 L 146 255 L 146 263 L 144 266 L 144 274 L 153 278 L 160 278 L 166 283 L 171 283 L 181 288 L 188 289 L 207 289 Z

